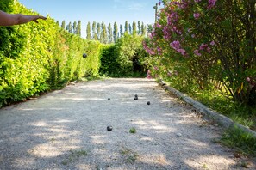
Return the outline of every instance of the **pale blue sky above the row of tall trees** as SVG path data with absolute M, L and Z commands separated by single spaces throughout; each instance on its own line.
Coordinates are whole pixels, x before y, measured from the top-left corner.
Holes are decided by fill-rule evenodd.
M 143 21 L 152 24 L 154 21 L 155 3 L 159 0 L 19 0 L 28 9 L 50 15 L 56 21 L 82 21 L 84 29 L 88 21 L 104 21 L 105 24 L 124 26 L 125 21 Z M 82 36 L 84 37 L 82 31 Z

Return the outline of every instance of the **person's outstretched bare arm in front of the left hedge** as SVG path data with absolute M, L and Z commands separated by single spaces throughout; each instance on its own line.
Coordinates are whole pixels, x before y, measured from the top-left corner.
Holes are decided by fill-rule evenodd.
M 22 15 L 22 14 L 8 14 L 0 10 L 0 26 L 13 26 L 29 21 L 38 23 L 38 19 L 46 20 L 47 18 L 40 15 Z

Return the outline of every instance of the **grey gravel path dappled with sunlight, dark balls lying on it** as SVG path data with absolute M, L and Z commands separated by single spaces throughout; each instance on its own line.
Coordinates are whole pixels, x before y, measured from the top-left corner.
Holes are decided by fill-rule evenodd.
M 241 169 L 220 131 L 153 80 L 78 82 L 0 110 L 0 169 Z

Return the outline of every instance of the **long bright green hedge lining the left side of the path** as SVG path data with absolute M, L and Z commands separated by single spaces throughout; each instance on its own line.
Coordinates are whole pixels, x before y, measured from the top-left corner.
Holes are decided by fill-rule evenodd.
M 10 0 L 1 1 L 0 9 L 37 15 Z M 0 37 L 0 107 L 98 75 L 101 44 L 67 33 L 50 17 L 39 24 L 0 27 Z

